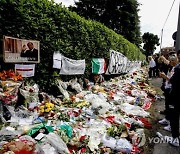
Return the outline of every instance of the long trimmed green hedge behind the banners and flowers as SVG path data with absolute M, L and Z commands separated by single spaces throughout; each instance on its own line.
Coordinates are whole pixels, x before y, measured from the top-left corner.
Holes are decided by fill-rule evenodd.
M 91 72 L 91 58 L 108 59 L 110 49 L 123 53 L 130 60 L 145 58 L 121 35 L 53 1 L 1 0 L 0 21 L 1 38 L 7 35 L 40 41 L 41 63 L 36 66 L 35 80 L 43 90 L 48 90 L 53 77 L 54 51 L 72 59 L 86 59 L 86 76 Z

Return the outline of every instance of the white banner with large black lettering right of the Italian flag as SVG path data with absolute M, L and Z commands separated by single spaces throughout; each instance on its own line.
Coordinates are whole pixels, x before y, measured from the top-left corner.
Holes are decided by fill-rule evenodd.
M 110 61 L 106 74 L 120 74 L 125 72 L 127 66 L 127 58 L 114 50 L 110 51 Z

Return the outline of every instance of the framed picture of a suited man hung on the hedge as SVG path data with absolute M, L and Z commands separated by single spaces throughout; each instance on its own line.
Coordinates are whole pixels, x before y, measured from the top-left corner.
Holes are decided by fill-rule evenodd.
M 39 63 L 40 42 L 4 36 L 3 58 L 5 63 Z

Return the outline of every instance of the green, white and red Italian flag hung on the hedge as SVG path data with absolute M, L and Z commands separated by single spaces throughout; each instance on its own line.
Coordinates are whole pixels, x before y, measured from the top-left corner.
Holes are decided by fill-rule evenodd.
M 93 74 L 105 73 L 106 65 L 105 65 L 105 60 L 103 58 L 93 58 L 91 62 L 92 62 Z

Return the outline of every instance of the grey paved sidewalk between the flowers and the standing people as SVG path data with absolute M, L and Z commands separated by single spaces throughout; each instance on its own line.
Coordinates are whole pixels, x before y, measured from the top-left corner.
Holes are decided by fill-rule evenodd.
M 160 86 L 162 83 L 162 80 L 160 78 L 154 78 L 150 81 L 150 83 L 157 88 L 157 90 L 160 92 Z M 154 118 L 154 123 L 155 126 L 153 126 L 155 129 L 153 130 L 153 136 L 154 139 L 154 149 L 153 149 L 153 154 L 180 154 L 180 147 L 172 147 L 168 143 L 158 143 L 160 140 L 156 137 L 156 132 L 160 132 L 162 135 L 168 135 L 171 136 L 171 133 L 168 131 L 163 130 L 162 125 L 158 124 L 158 121 L 162 118 L 164 118 L 164 115 L 159 114 L 159 111 L 164 110 L 164 99 L 158 100 L 156 103 L 153 105 L 154 108 L 154 113 L 153 113 L 153 118 Z M 150 140 L 148 141 L 150 142 Z

